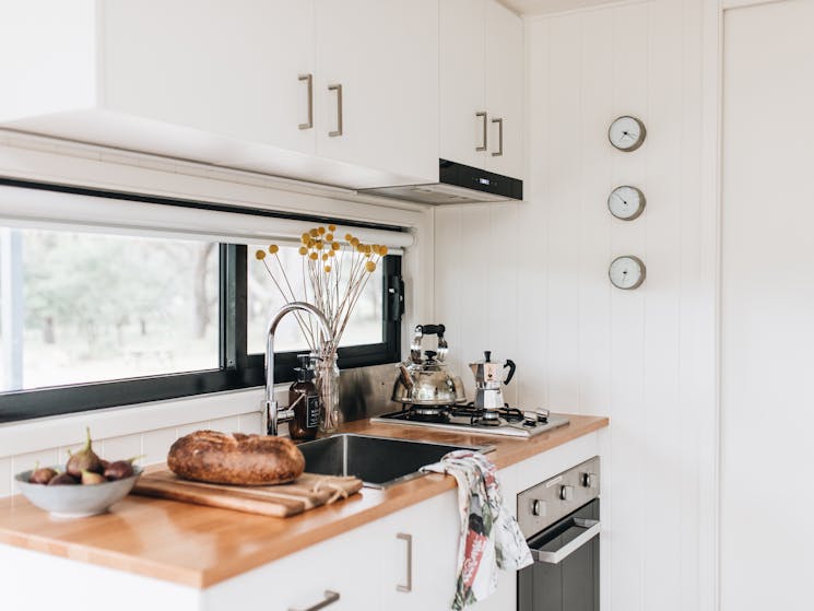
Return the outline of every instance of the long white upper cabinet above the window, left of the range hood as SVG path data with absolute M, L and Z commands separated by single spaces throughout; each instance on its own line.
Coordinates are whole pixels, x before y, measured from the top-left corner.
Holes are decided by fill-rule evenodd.
M 0 127 L 354 188 L 437 180 L 437 0 L 0 10 Z

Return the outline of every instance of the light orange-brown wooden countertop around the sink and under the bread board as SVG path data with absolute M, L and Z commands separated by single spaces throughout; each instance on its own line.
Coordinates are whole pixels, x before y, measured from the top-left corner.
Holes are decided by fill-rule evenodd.
M 499 469 L 607 425 L 569 415 L 570 424 L 531 439 L 458 434 L 417 426 L 349 423 L 342 432 L 453 445 L 494 445 Z M 173 501 L 128 496 L 109 514 L 56 520 L 23 496 L 0 500 L 0 543 L 205 588 L 282 556 L 452 490 L 455 479 L 428 474 L 292 518 L 269 518 Z

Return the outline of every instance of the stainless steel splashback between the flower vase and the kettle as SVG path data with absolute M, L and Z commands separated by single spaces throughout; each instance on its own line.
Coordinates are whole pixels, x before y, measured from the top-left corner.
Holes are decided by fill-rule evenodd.
M 397 367 L 397 363 L 388 363 L 342 369 L 339 376 L 340 410 L 345 422 L 374 418 L 402 408 L 390 399 L 398 375 Z

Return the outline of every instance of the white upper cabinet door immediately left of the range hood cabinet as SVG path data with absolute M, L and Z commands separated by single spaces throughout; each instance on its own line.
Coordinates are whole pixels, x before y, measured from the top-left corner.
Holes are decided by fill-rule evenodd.
M 316 0 L 315 15 L 317 154 L 437 180 L 437 0 Z

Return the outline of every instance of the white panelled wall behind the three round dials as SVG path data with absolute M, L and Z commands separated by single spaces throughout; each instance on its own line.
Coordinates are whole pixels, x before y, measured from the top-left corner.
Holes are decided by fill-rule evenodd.
M 602 608 L 707 608 L 703 537 L 713 469 L 712 304 L 701 197 L 703 2 L 652 0 L 527 21 L 526 201 L 436 210 L 434 321 L 456 371 L 493 350 L 514 359 L 507 399 L 607 414 Z M 607 127 L 640 117 L 647 141 L 615 151 Z M 633 222 L 606 199 L 647 196 Z M 645 285 L 607 266 L 641 257 Z M 471 377 L 471 376 L 470 376 Z

